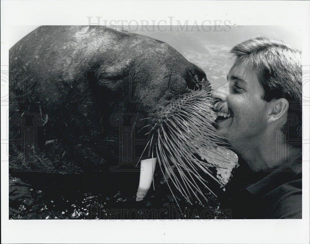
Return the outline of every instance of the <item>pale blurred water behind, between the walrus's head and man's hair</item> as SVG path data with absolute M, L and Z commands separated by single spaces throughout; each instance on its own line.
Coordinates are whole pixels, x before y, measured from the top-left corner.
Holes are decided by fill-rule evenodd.
M 135 30 L 135 28 L 132 29 Z M 167 26 L 166 29 L 170 30 L 170 27 Z M 180 28 L 174 26 L 173 30 L 171 32 L 137 31 L 136 33 L 170 44 L 188 61 L 193 62 L 206 72 L 213 88 L 226 82 L 226 75 L 233 64 L 229 51 L 238 43 L 250 38 L 268 37 L 281 39 L 300 50 L 302 49 L 301 30 L 294 26 L 232 25 L 230 28 L 223 27 L 223 31 L 215 31 L 218 29 L 215 29 L 214 26 L 205 27 L 205 30 L 209 31 L 178 31 Z

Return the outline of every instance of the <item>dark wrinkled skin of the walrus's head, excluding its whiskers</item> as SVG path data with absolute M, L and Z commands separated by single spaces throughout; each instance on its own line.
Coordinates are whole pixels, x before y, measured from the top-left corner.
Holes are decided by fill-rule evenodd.
M 135 165 L 158 111 L 209 89 L 205 73 L 168 44 L 102 26 L 41 26 L 11 47 L 9 69 L 15 170 Z

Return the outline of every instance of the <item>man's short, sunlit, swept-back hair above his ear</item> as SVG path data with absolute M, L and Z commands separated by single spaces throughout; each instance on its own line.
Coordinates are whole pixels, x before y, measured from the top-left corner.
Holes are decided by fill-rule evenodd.
M 302 65 L 301 52 L 273 38 L 254 38 L 233 47 L 230 51 L 236 62 L 246 62 L 258 72 L 264 89 L 262 99 L 286 98 L 289 102 L 287 120 L 282 131 L 286 140 L 301 145 L 302 139 Z

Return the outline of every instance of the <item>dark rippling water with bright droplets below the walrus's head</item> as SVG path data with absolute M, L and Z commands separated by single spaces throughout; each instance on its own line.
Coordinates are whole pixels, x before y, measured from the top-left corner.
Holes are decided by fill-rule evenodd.
M 14 175 L 14 176 L 13 176 Z M 220 203 L 205 189 L 208 203 L 191 206 L 172 187 L 177 206 L 162 175 L 154 176 L 143 201 L 136 202 L 139 173 L 45 174 L 9 176 L 9 219 L 226 219 Z M 172 184 L 171 184 L 172 185 Z

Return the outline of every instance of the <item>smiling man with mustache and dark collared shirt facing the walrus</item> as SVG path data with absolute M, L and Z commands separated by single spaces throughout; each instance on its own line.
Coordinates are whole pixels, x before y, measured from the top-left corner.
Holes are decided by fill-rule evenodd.
M 240 164 L 228 186 L 226 207 L 232 218 L 299 219 L 301 52 L 276 39 L 255 38 L 231 53 L 236 61 L 227 83 L 212 94 L 218 131 Z

